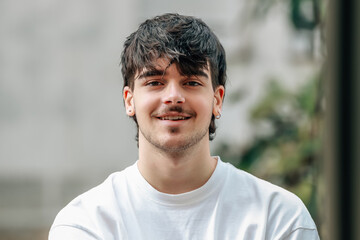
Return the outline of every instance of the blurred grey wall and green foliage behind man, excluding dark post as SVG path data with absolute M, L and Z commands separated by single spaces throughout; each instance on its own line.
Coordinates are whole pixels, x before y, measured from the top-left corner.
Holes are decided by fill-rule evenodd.
M 47 239 L 70 200 L 137 159 L 123 42 L 149 17 L 202 18 L 227 52 L 212 153 L 297 194 L 327 239 L 327 0 L 0 1 L 0 239 Z

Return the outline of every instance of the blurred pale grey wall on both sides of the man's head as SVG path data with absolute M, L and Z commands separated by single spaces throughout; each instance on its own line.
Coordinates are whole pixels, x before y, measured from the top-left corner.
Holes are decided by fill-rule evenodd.
M 118 64 L 148 17 L 178 12 L 213 28 L 228 54 L 227 97 L 243 98 L 226 100 L 212 146 L 248 143 L 265 82 L 296 89 L 321 58 L 308 56 L 314 38 L 293 31 L 286 1 L 260 20 L 246 11 L 255 2 L 0 1 L 0 230 L 48 229 L 71 199 L 135 162 Z

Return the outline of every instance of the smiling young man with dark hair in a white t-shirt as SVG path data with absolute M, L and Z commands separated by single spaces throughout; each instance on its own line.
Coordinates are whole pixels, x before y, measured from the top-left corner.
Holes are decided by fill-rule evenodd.
M 49 239 L 319 239 L 299 198 L 210 155 L 226 62 L 204 22 L 147 20 L 121 63 L 139 159 L 66 206 Z

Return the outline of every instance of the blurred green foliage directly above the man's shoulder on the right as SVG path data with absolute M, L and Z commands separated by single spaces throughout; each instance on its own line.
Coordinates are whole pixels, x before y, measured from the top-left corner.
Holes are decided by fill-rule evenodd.
M 312 79 L 292 93 L 270 81 L 266 95 L 251 112 L 257 130 L 254 141 L 241 151 L 229 151 L 236 147 L 227 143 L 218 149 L 225 161 L 298 195 L 314 218 L 321 150 L 318 83 L 318 78 Z

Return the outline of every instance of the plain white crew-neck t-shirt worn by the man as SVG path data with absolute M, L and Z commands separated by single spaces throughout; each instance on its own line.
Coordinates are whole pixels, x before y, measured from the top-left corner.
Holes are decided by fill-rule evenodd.
M 111 174 L 57 215 L 50 240 L 319 239 L 294 194 L 218 160 L 210 179 L 183 194 L 154 189 L 137 164 Z

